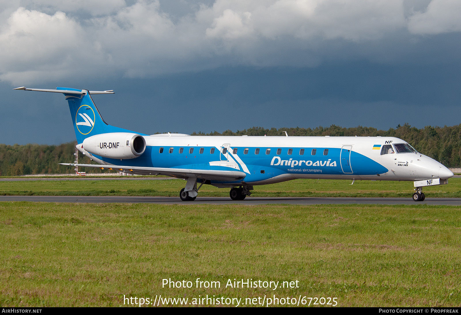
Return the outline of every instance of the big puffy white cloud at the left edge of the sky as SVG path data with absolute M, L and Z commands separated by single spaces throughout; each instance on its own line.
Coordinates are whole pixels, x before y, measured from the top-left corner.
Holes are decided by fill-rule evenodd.
M 81 74 L 103 55 L 86 37 L 81 25 L 64 12 L 51 16 L 20 7 L 1 27 L 0 79 L 48 81 Z

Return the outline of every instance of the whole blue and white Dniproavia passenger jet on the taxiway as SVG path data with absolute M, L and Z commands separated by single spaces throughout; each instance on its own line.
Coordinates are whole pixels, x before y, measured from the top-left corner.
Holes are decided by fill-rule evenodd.
M 65 95 L 77 149 L 100 165 L 62 164 L 181 178 L 187 181 L 179 193 L 182 200 L 195 200 L 203 184 L 231 188 L 231 198 L 242 200 L 254 185 L 314 178 L 414 181 L 413 200 L 423 201 L 422 187 L 446 184 L 453 176 L 442 164 L 393 137 L 148 135 L 104 122 L 91 94 L 112 91 L 16 89 Z

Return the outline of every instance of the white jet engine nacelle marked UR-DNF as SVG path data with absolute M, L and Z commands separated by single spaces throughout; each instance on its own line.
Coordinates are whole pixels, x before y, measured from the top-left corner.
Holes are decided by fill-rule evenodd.
M 112 132 L 96 134 L 83 140 L 83 149 L 101 157 L 128 159 L 139 157 L 146 150 L 146 140 L 140 134 Z

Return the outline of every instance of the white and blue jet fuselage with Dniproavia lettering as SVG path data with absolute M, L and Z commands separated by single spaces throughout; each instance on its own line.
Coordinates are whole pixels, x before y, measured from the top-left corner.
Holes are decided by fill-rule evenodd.
M 442 164 L 415 151 L 399 153 L 393 148 L 395 153 L 381 154 L 385 144 L 407 144 L 393 137 L 174 134 L 143 137 L 146 151 L 124 164 L 153 168 L 232 169 L 245 173 L 242 180 L 211 181 L 218 187 L 234 187 L 242 183 L 262 185 L 297 178 L 419 181 L 452 176 Z M 101 164 L 120 164 L 119 159 L 95 158 Z

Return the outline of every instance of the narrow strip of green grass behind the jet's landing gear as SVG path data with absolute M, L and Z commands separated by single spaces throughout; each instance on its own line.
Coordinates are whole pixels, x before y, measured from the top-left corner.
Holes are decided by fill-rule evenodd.
M 254 197 L 408 197 L 413 182 L 408 181 L 294 180 L 255 186 Z M 177 197 L 183 180 L 136 181 L 0 181 L 0 195 L 65 196 L 167 196 Z M 461 178 L 449 184 L 424 187 L 427 197 L 461 197 Z M 228 197 L 228 188 L 203 185 L 199 196 Z

